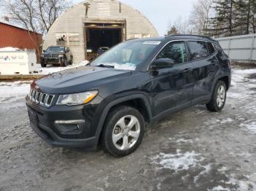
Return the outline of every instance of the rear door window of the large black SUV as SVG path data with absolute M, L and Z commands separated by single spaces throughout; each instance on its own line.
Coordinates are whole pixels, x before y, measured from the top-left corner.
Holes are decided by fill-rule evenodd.
M 192 61 L 206 58 L 209 55 L 206 42 L 189 41 L 187 44 L 189 46 Z

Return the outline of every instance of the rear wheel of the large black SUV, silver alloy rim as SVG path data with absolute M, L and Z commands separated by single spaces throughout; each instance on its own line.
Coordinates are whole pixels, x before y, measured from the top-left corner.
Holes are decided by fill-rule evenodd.
M 211 112 L 220 112 L 225 106 L 227 98 L 227 86 L 223 81 L 217 81 L 214 87 L 214 93 L 211 95 L 211 101 L 206 107 Z

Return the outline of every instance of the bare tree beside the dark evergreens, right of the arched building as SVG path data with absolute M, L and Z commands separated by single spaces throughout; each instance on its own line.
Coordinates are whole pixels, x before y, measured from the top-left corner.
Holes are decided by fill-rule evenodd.
M 194 34 L 208 34 L 209 19 L 214 14 L 214 10 L 211 8 L 213 4 L 214 0 L 198 0 L 193 4 L 189 24 Z

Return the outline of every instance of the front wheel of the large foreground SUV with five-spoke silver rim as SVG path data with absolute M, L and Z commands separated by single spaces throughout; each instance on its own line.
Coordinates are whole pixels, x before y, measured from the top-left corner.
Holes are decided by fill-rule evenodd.
M 101 136 L 102 147 L 114 157 L 127 156 L 139 147 L 144 129 L 144 118 L 137 109 L 119 106 L 108 114 Z

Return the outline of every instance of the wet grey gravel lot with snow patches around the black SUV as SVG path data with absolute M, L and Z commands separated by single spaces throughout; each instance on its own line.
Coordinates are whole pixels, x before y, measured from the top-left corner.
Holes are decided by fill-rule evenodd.
M 124 158 L 50 147 L 29 127 L 29 84 L 0 82 L 0 190 L 256 190 L 256 69 L 234 67 L 221 113 L 148 126 Z

